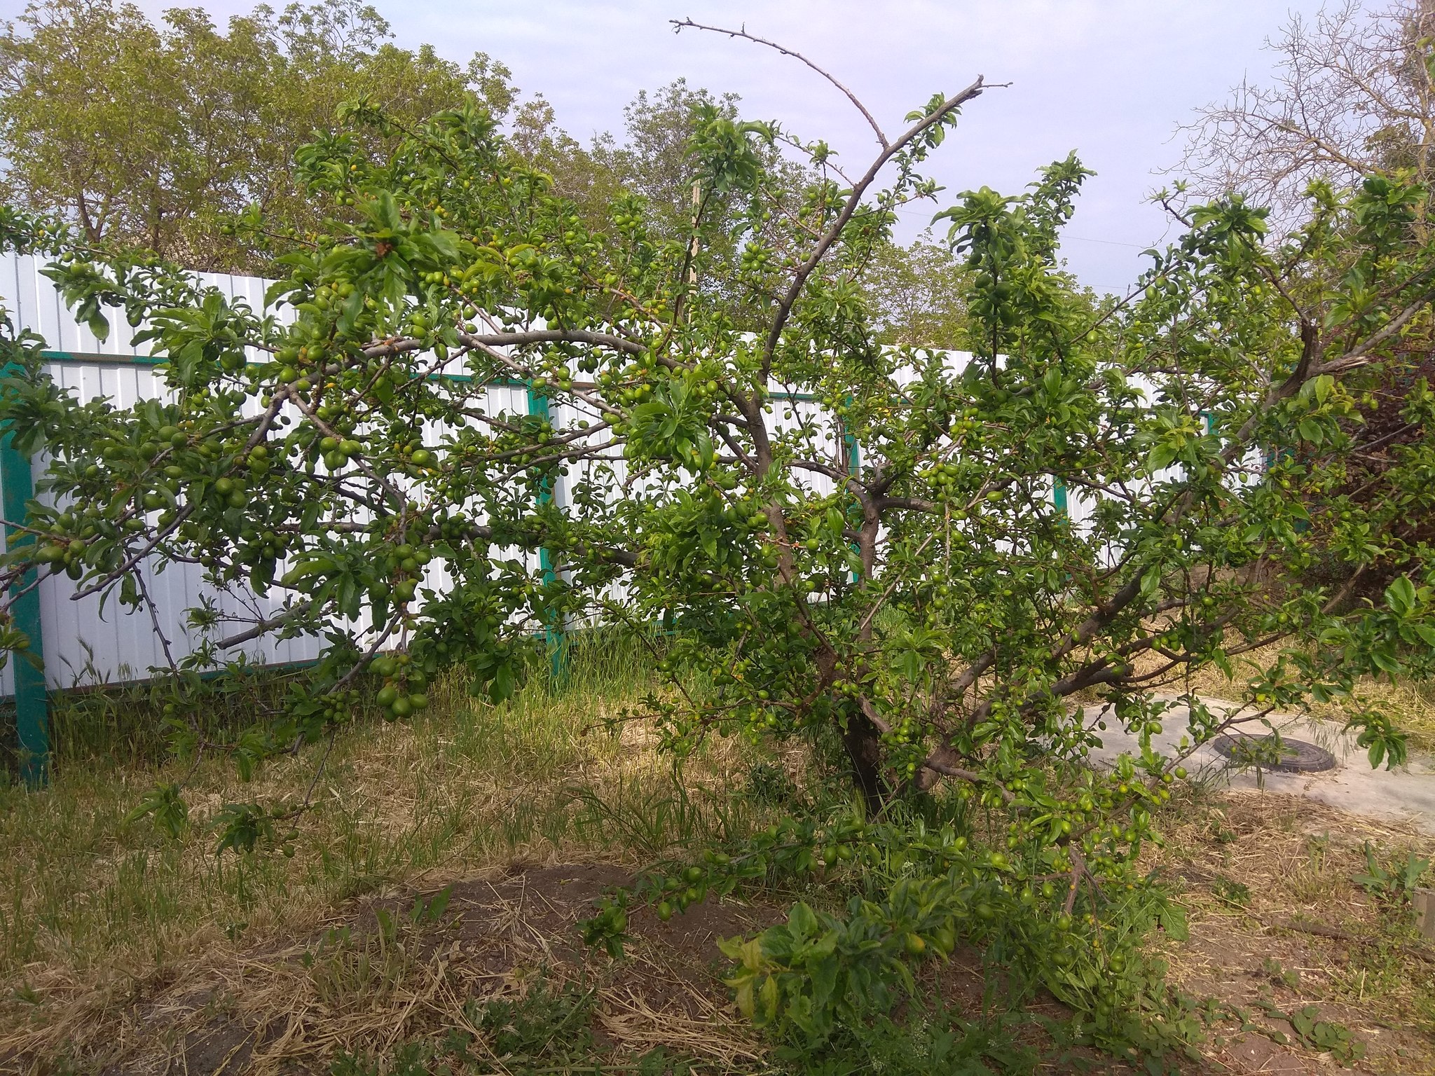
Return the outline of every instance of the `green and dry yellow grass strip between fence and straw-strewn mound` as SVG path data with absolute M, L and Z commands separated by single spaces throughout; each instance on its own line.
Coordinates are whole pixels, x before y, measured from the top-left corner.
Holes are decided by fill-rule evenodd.
M 307 994 L 296 988 L 293 938 L 343 917 L 356 898 L 430 878 L 514 862 L 636 864 L 720 839 L 742 822 L 726 789 L 742 785 L 751 749 L 718 740 L 676 785 L 641 726 L 616 736 L 596 727 L 646 687 L 641 677 L 610 679 L 551 696 L 540 684 L 492 707 L 469 700 L 462 683 L 435 684 L 422 719 L 336 739 L 293 858 L 217 856 L 207 819 L 232 802 L 297 802 L 323 745 L 267 763 L 250 783 L 218 758 L 192 769 L 69 766 L 44 792 L 0 789 L 0 1067 L 16 1052 L 93 1057 L 96 1044 L 156 1030 L 182 1046 L 195 1020 L 225 1006 L 258 1029 L 255 1042 L 286 1029 L 264 1047 L 276 1059 L 349 1040 L 367 1049 L 344 1019 L 372 1027 L 395 1004 L 452 1016 L 452 997 L 471 997 L 471 984 L 455 987 L 456 964 L 429 954 L 400 970 L 360 961 L 377 980 L 359 984 L 362 1001 L 340 1019 L 342 990 L 326 1000 L 314 983 Z M 187 782 L 191 816 L 178 839 L 148 819 L 125 821 L 148 788 L 175 779 Z M 380 986 L 390 996 L 376 1010 Z M 281 1009 L 306 997 L 307 1016 L 284 1023 Z M 179 1010 L 192 1011 L 172 1019 Z M 621 997 L 601 1011 L 614 1029 L 640 1024 Z

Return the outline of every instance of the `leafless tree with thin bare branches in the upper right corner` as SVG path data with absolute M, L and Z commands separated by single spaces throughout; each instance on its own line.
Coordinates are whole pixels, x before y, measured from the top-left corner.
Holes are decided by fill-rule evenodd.
M 1190 192 L 1198 199 L 1241 194 L 1273 207 L 1277 228 L 1290 230 L 1320 204 L 1309 197 L 1312 185 L 1343 191 L 1379 176 L 1422 192 L 1411 204 L 1411 241 L 1425 242 L 1435 179 L 1435 4 L 1398 0 L 1368 10 L 1345 0 L 1313 22 L 1292 16 L 1269 47 L 1280 56 L 1270 85 L 1243 83 L 1185 128 L 1185 155 L 1172 171 L 1190 176 Z M 1302 265 L 1289 285 L 1307 296 L 1358 285 L 1313 275 L 1320 268 Z M 1408 362 L 1362 400 L 1372 449 L 1350 462 L 1347 479 L 1362 508 L 1379 486 L 1375 475 L 1421 436 L 1406 416 L 1408 397 L 1435 376 L 1429 334 L 1402 336 Z M 1421 537 L 1435 541 L 1435 521 Z M 1362 593 L 1379 591 L 1396 567 L 1369 572 Z

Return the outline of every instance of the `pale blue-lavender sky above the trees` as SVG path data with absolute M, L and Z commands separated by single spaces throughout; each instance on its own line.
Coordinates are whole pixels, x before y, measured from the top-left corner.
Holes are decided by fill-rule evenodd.
M 271 0 L 276 7 L 281 0 Z M 865 165 L 871 132 L 818 76 L 772 50 L 684 30 L 669 19 L 738 26 L 806 53 L 845 82 L 888 133 L 936 90 L 982 73 L 1012 82 L 973 102 L 931 172 L 956 192 L 983 184 L 1016 191 L 1033 171 L 1076 149 L 1089 181 L 1063 247 L 1071 265 L 1098 288 L 1115 290 L 1141 264 L 1139 248 L 1167 224 L 1147 194 L 1170 182 L 1152 169 L 1174 164 L 1178 122 L 1243 76 L 1270 69 L 1263 52 L 1292 11 L 1319 0 L 375 0 L 399 44 L 430 42 L 466 60 L 488 52 L 519 88 L 541 92 L 580 139 L 618 131 L 639 89 L 677 76 L 735 90 L 743 110 L 781 119 L 806 138 L 825 138 L 848 166 Z M 0 11 L 20 9 L 0 0 Z M 141 0 L 156 14 L 174 0 Z M 224 17 L 247 0 L 202 3 Z M 917 211 L 916 232 L 930 220 Z

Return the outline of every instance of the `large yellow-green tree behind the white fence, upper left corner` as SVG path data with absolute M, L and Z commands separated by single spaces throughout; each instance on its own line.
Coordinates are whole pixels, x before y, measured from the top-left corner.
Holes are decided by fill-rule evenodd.
M 0 36 L 6 201 L 57 209 L 90 242 L 144 247 L 189 268 L 260 271 L 264 250 L 228 224 L 257 205 L 278 234 L 321 212 L 293 159 L 350 98 L 412 122 L 482 96 L 502 115 L 508 72 L 389 43 L 359 0 L 257 7 L 215 29 L 201 9 L 154 26 L 113 0 L 33 3 Z

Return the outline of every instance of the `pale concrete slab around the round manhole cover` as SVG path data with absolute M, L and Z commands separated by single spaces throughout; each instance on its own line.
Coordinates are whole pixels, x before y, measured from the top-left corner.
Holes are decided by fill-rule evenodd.
M 1204 699 L 1213 712 L 1230 713 L 1231 703 L 1220 699 Z M 1105 713 L 1101 706 L 1088 706 L 1082 714 L 1088 726 L 1095 729 L 1096 720 Z M 1154 750 L 1167 755 L 1177 753 L 1182 736 L 1190 737 L 1190 710 L 1172 706 L 1161 719 L 1162 730 L 1151 737 Z M 1185 760 L 1185 768 L 1198 780 L 1211 780 L 1221 786 L 1280 792 L 1287 796 L 1306 796 L 1339 811 L 1368 818 L 1412 822 L 1422 832 L 1435 834 L 1435 759 L 1412 755 L 1408 765 L 1393 770 L 1372 770 L 1363 747 L 1356 746 L 1355 736 L 1346 733 L 1333 722 L 1317 722 L 1290 714 L 1271 714 L 1270 723 L 1281 736 L 1307 740 L 1325 747 L 1336 756 L 1336 768 L 1323 773 L 1273 773 L 1263 770 L 1260 778 L 1251 770 L 1233 768 L 1211 745 L 1197 747 Z M 1266 727 L 1250 723 L 1243 732 L 1251 736 L 1266 733 Z M 1139 753 L 1137 737 L 1111 723 L 1105 732 L 1096 730 L 1102 740 L 1099 749 L 1091 753 L 1092 762 L 1112 765 L 1126 752 Z

